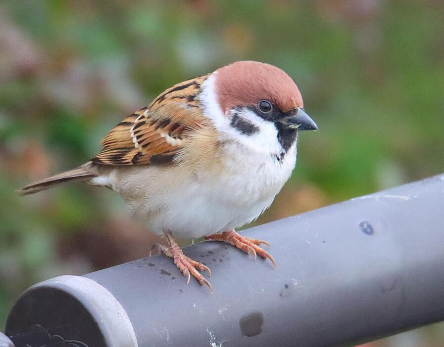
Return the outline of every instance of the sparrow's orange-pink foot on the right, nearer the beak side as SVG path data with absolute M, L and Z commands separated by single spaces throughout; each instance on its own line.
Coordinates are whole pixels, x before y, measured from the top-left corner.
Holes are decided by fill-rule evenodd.
M 271 260 L 271 262 L 273 263 L 273 267 L 276 268 L 276 261 L 274 261 L 273 257 L 267 251 L 259 247 L 262 244 L 270 246 L 267 241 L 250 239 L 249 237 L 241 236 L 234 229 L 230 231 L 224 231 L 221 234 L 212 234 L 209 236 L 205 236 L 204 239 L 212 241 L 223 241 L 232 244 L 245 253 L 252 253 L 254 260 L 256 260 L 256 254 L 258 254 L 264 259 Z

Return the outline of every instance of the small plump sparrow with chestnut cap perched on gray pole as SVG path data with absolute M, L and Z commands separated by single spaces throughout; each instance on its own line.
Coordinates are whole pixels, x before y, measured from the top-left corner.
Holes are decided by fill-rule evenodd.
M 33 194 L 73 181 L 119 193 L 131 218 L 167 245 L 152 250 L 213 288 L 176 238 L 221 241 L 271 260 L 266 241 L 236 229 L 260 216 L 296 166 L 299 131 L 318 130 L 293 79 L 276 66 L 237 61 L 179 83 L 126 117 L 78 168 L 18 189 Z M 150 252 L 151 253 L 151 252 Z

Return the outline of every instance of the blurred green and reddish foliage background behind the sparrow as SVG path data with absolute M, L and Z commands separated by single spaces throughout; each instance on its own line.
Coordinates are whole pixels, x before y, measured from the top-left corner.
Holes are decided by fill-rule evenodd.
M 1 1 L 0 330 L 31 284 L 155 240 L 106 189 L 14 190 L 83 164 L 162 90 L 227 63 L 285 70 L 320 128 L 257 223 L 443 172 L 443 18 L 439 0 Z M 366 346 L 444 346 L 444 325 Z

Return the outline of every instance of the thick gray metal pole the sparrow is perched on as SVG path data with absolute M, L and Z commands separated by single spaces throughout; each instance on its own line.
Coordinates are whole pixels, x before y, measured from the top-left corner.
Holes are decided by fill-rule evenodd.
M 203 242 L 185 254 L 211 268 L 213 295 L 164 256 L 61 276 L 23 294 L 6 335 L 16 347 L 322 347 L 444 320 L 444 175 L 245 234 L 270 242 L 277 269 Z

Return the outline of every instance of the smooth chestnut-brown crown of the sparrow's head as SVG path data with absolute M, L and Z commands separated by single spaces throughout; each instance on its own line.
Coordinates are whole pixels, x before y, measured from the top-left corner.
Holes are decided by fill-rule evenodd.
M 268 100 L 282 112 L 303 108 L 292 78 L 281 69 L 257 61 L 237 61 L 216 70 L 216 92 L 222 111 Z

